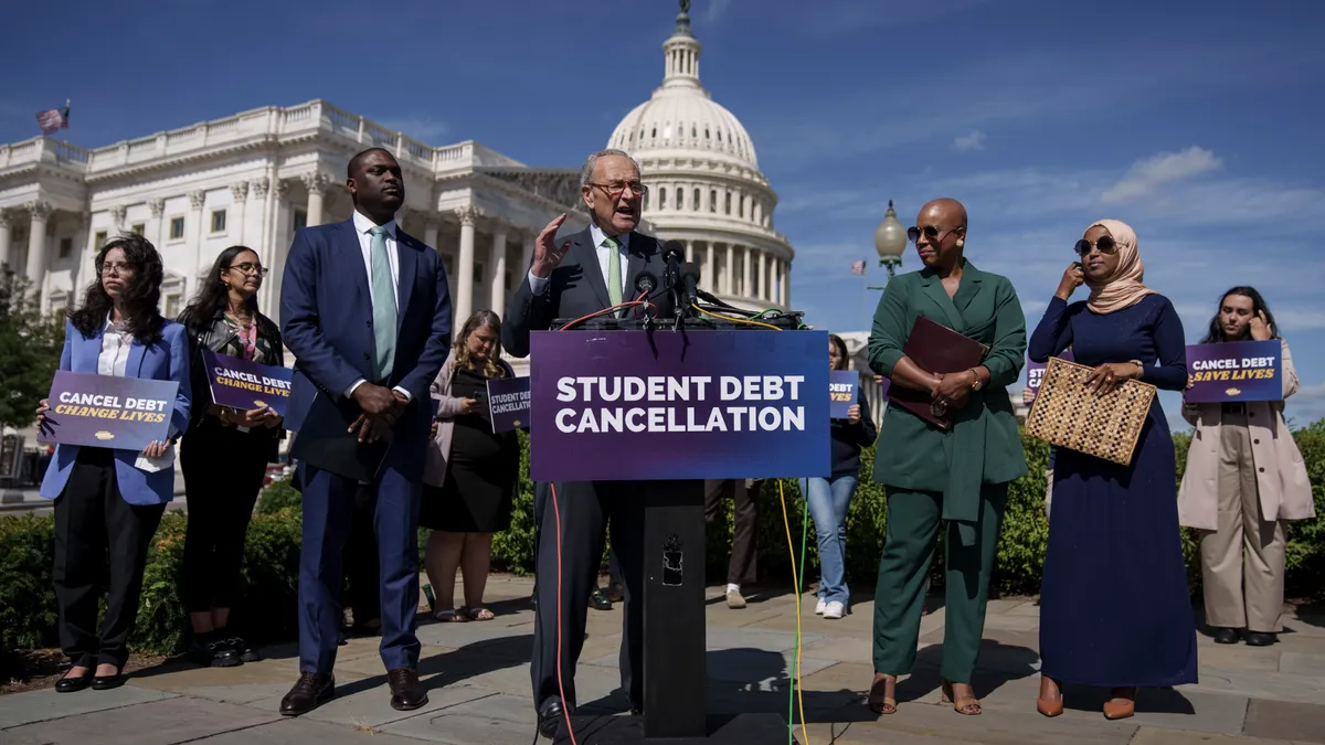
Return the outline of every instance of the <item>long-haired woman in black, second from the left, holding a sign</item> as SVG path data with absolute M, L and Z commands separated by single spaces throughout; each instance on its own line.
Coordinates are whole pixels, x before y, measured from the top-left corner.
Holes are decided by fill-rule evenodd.
M 257 309 L 257 292 L 266 273 L 253 249 L 232 245 L 216 257 L 197 296 L 179 317 L 188 329 L 192 386 L 200 396 L 180 452 L 188 498 L 183 591 L 193 630 L 188 654 L 211 667 L 260 659 L 257 650 L 228 624 L 249 518 L 262 490 L 266 464 L 277 460 L 281 418 L 265 406 L 250 411 L 204 406 L 201 396 L 211 390 L 211 371 L 203 350 L 285 366 L 281 331 Z

